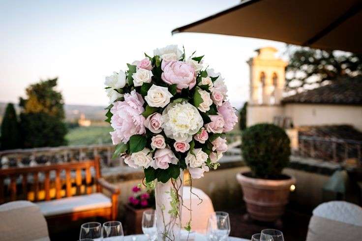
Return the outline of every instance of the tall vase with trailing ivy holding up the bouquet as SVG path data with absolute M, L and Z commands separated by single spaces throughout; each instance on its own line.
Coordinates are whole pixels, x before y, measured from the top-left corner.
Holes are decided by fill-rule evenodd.
M 183 172 L 166 183 L 156 181 L 157 241 L 181 240 Z

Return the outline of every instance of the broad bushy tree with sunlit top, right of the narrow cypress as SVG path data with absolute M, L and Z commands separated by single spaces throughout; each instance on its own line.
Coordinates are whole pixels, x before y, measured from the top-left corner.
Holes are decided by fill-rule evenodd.
M 40 81 L 26 89 L 27 99 L 20 98 L 20 129 L 24 148 L 66 145 L 63 99 L 54 90 L 58 78 Z

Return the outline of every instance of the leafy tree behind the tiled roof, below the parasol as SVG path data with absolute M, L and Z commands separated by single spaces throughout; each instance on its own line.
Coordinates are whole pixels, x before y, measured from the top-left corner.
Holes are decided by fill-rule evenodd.
M 362 55 L 298 47 L 289 52 L 286 67 L 286 90 L 305 89 L 339 77 L 362 75 Z

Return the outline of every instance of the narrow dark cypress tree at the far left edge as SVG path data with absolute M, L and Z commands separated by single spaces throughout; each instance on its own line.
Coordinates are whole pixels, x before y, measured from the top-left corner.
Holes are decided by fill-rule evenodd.
M 19 121 L 14 105 L 9 103 L 1 122 L 0 148 L 1 150 L 10 150 L 19 147 Z

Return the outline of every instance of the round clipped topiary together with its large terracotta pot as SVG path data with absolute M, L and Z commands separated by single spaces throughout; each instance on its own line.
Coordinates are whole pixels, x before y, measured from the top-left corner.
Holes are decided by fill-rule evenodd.
M 289 163 L 290 141 L 273 124 L 256 124 L 242 132 L 241 154 L 250 172 L 238 173 L 243 199 L 251 218 L 276 221 L 288 203 L 293 177 L 282 174 Z

